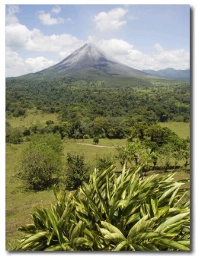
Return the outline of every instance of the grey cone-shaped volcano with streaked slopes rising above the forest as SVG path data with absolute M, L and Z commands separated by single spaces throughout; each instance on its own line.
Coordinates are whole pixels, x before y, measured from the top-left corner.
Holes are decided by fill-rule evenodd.
M 126 77 L 139 79 L 156 79 L 155 76 L 123 65 L 108 54 L 104 53 L 95 44 L 84 44 L 56 65 L 23 75 L 24 78 L 78 77 L 78 78 L 107 78 Z

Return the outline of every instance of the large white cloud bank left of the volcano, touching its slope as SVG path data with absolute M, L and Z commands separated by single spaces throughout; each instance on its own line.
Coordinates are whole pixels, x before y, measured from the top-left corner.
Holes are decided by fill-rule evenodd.
M 22 24 L 10 24 L 5 27 L 6 38 L 6 76 L 18 76 L 25 73 L 36 72 L 53 65 L 69 54 L 80 48 L 84 41 L 79 40 L 71 34 L 44 35 L 40 30 L 34 28 L 28 30 Z M 37 58 L 22 59 L 18 50 L 26 50 L 31 56 L 32 52 L 40 52 Z M 42 53 L 48 52 L 53 56 L 52 60 L 44 58 Z

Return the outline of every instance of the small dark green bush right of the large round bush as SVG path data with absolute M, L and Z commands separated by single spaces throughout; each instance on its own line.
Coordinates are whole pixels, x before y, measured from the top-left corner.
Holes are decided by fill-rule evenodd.
M 89 177 L 88 165 L 84 162 L 84 155 L 67 153 L 66 189 L 77 189 Z

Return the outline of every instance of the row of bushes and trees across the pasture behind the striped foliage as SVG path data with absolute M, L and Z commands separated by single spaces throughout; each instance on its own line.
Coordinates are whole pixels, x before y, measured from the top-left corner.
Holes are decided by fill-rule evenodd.
M 102 171 L 116 162 L 119 162 L 121 167 L 134 167 L 144 163 L 141 178 L 150 170 L 186 170 L 189 165 L 187 141 L 169 128 L 155 124 L 148 126 L 147 123 L 141 122 L 133 126 L 127 143 L 116 146 L 115 149 L 114 153 L 96 155 L 90 165 L 83 153 L 73 151 L 65 157 L 63 140 L 59 134 L 34 134 L 24 146 L 17 176 L 30 190 L 48 189 L 53 184 L 70 190 L 77 189 L 83 182 L 87 182 L 94 167 Z

